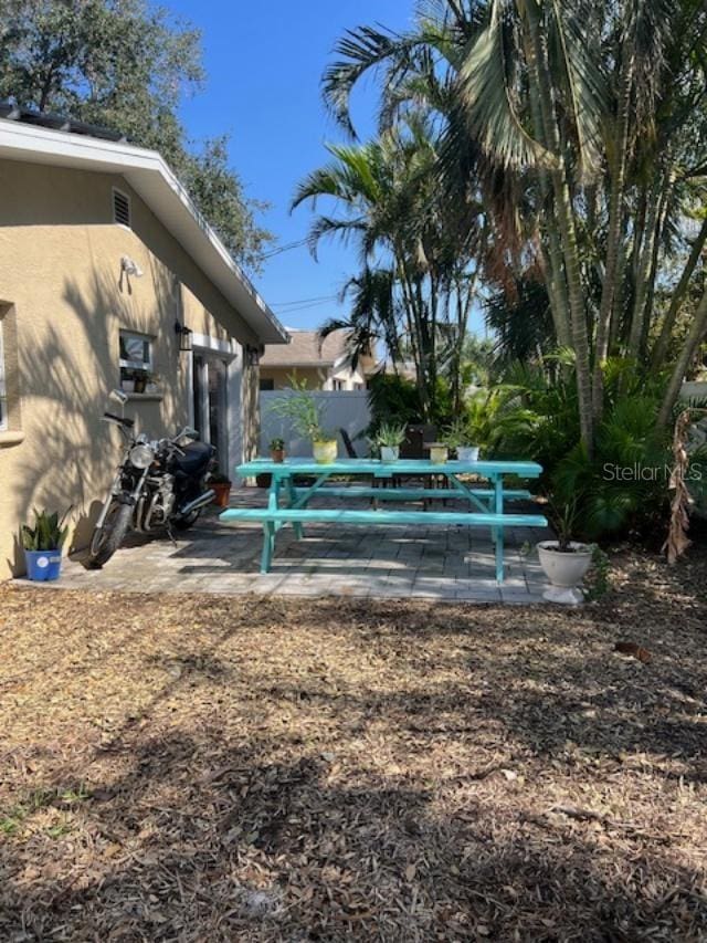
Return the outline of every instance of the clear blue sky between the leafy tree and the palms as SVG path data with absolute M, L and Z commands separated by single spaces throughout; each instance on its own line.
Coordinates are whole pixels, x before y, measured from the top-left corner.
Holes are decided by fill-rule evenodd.
M 263 222 L 281 245 L 307 234 L 313 219 L 303 206 L 289 214 L 298 180 L 326 161 L 326 142 L 342 134 L 321 103 L 320 78 L 347 28 L 409 25 L 413 0 L 305 0 L 253 3 L 244 0 L 167 0 L 176 14 L 202 31 L 208 83 L 187 101 L 182 116 L 194 138 L 231 134 L 232 164 L 250 196 L 271 209 Z M 355 99 L 357 126 L 372 130 L 374 86 Z M 319 262 L 306 247 L 283 252 L 254 281 L 278 317 L 291 327 L 317 327 L 340 313 L 338 294 L 357 269 L 354 250 L 321 245 Z M 323 300 L 303 305 L 283 303 Z

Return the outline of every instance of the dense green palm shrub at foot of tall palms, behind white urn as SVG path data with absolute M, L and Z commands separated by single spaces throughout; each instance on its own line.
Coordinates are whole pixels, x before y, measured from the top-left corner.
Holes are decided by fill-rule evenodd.
M 557 506 L 572 504 L 572 536 L 599 539 L 664 522 L 671 465 L 668 436 L 656 432 L 664 380 L 645 378 L 629 360 L 604 369 L 605 407 L 590 459 L 580 443 L 571 358 L 559 374 L 539 365 L 513 365 L 498 389 L 497 453 L 535 459 L 537 483 Z

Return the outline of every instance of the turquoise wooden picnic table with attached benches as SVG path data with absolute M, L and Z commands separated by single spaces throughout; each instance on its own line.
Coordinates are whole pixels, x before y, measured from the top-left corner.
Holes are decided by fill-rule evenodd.
M 506 501 L 529 499 L 530 492 L 523 489 L 506 488 L 508 478 L 534 479 L 542 472 L 537 462 L 525 461 L 450 461 L 443 464 L 429 459 L 399 459 L 395 462 L 382 462 L 379 459 L 337 459 L 329 464 L 319 464 L 314 459 L 287 459 L 274 462 L 271 459 L 254 459 L 236 468 L 241 478 L 271 475 L 267 505 L 264 507 L 230 507 L 220 515 L 225 522 L 262 522 L 263 553 L 261 573 L 268 573 L 275 552 L 275 535 L 282 527 L 291 524 L 295 536 L 302 539 L 306 523 L 326 523 L 346 526 L 349 524 L 377 525 L 441 525 L 489 527 L 495 543 L 496 579 L 504 579 L 504 528 L 505 527 L 546 527 L 547 520 L 540 514 L 517 514 L 505 511 Z M 386 482 L 395 479 L 424 479 L 435 476 L 445 479 L 444 488 L 404 486 L 391 488 Z M 471 484 L 468 475 L 483 479 L 488 486 Z M 295 479 L 313 478 L 314 483 L 298 486 Z M 463 479 L 464 476 L 464 479 Z M 331 478 L 368 478 L 380 482 L 380 486 L 328 484 Z M 286 504 L 281 503 L 285 497 Z M 468 510 L 458 511 L 400 511 L 371 509 L 361 510 L 342 506 L 310 507 L 316 497 L 371 499 L 377 503 L 395 501 L 430 501 L 430 499 L 455 497 L 465 501 Z

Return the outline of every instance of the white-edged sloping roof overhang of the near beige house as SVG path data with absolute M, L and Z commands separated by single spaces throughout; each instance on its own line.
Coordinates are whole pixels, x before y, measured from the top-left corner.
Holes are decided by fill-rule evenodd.
M 2 104 L 0 158 L 122 175 L 261 343 L 287 343 L 283 325 L 156 150 L 116 140 L 92 125 Z

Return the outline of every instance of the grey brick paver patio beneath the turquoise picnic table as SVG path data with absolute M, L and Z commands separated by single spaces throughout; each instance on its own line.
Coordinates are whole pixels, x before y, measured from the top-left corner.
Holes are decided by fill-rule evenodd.
M 233 506 L 262 506 L 265 493 L 234 489 Z M 330 499 L 326 506 L 340 506 Z M 447 506 L 453 502 L 447 502 Z M 318 506 L 323 506 L 320 503 Z M 356 506 L 347 502 L 347 506 Z M 361 507 L 369 506 L 361 502 Z M 420 506 L 420 505 L 418 505 Z M 460 505 L 457 510 L 462 510 Z M 526 555 L 547 534 L 506 531 L 506 581 L 494 575 L 487 531 L 469 527 L 331 527 L 310 524 L 296 541 L 292 528 L 277 535 L 272 573 L 261 574 L 262 526 L 226 526 L 209 510 L 197 526 L 172 543 L 166 536 L 130 537 L 102 570 L 88 570 L 78 554 L 64 562 L 65 589 L 220 593 L 293 596 L 370 596 L 476 603 L 537 603 L 546 579 L 537 555 Z

